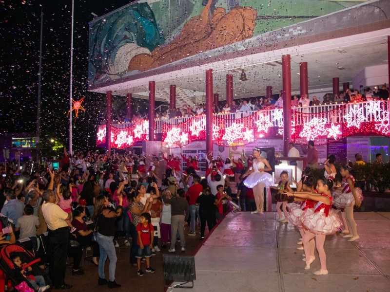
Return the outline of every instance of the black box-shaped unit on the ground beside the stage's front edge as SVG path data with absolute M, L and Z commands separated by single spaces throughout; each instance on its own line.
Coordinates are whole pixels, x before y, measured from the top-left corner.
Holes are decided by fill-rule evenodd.
M 163 254 L 162 255 L 164 278 L 166 282 L 175 281 L 182 282 L 177 284 L 175 288 L 193 288 L 195 274 L 195 258 L 194 256 L 176 256 Z M 186 283 L 192 283 L 192 286 L 182 286 Z

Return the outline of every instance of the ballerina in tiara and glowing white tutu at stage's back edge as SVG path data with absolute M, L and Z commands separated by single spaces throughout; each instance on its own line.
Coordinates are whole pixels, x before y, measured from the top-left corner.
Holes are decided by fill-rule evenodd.
M 266 171 L 271 171 L 272 168 L 268 163 L 268 160 L 260 156 L 261 149 L 253 149 L 253 167 L 242 175 L 243 178 L 247 177 L 244 184 L 248 188 L 253 188 L 254 201 L 256 202 L 256 211 L 251 214 L 263 214 L 264 208 L 264 187 L 270 187 L 273 185 L 273 177 Z

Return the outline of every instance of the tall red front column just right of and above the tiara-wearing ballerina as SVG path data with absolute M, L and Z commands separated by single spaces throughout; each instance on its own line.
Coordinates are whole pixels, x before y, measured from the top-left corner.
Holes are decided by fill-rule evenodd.
M 283 73 L 283 154 L 289 153 L 291 141 L 291 60 L 290 55 L 282 55 Z

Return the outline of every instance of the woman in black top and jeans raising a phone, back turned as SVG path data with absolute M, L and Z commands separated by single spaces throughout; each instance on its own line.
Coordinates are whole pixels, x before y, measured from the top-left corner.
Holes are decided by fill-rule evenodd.
M 117 268 L 117 254 L 114 246 L 115 236 L 115 221 L 117 217 L 122 215 L 122 201 L 121 194 L 117 194 L 118 207 L 116 210 L 109 208 L 109 201 L 104 196 L 98 196 L 95 200 L 95 212 L 93 219 L 97 221 L 98 232 L 96 240 L 99 244 L 100 258 L 98 264 L 99 279 L 98 284 L 106 285 L 108 288 L 119 288 L 121 285 L 115 282 L 115 270 Z M 110 259 L 109 266 L 109 281 L 105 279 L 104 263 L 106 259 Z

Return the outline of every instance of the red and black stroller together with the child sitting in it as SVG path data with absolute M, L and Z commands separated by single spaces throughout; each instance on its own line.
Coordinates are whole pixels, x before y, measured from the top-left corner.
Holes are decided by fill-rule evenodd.
M 33 291 L 43 292 L 50 288 L 51 281 L 39 268 L 39 261 L 40 258 L 34 259 L 34 256 L 20 245 L 8 244 L 1 247 L 0 267 L 15 288 L 22 282 Z M 25 291 L 25 288 L 21 291 Z

